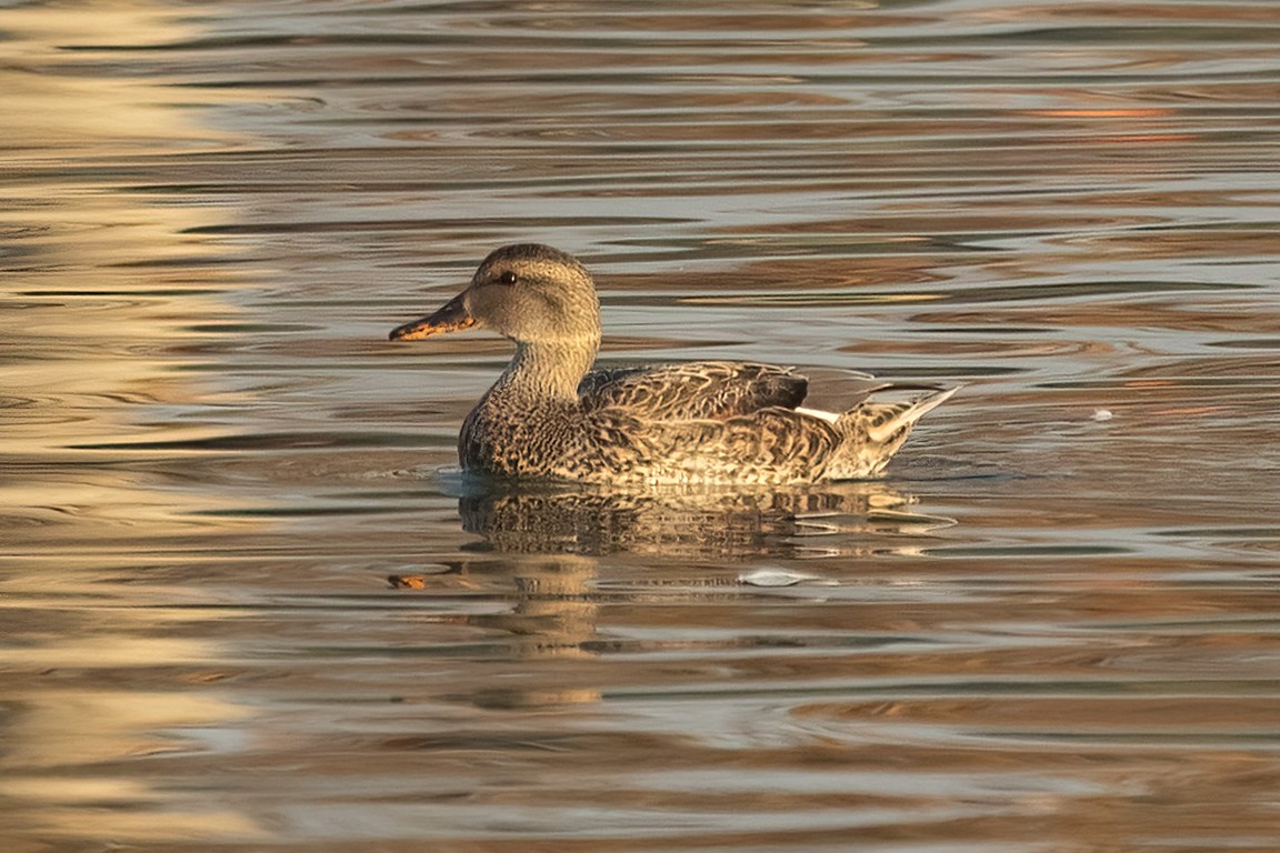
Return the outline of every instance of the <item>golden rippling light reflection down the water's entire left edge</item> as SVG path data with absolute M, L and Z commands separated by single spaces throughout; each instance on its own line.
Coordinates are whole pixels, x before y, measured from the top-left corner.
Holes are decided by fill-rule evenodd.
M 0 816 L 0 836 L 252 834 L 234 811 L 177 806 L 163 783 L 137 772 L 148 756 L 202 749 L 182 733 L 224 729 L 248 712 L 216 691 L 148 679 L 172 666 L 210 666 L 219 645 L 170 633 L 193 614 L 166 618 L 142 606 L 141 590 L 109 581 L 125 574 L 110 567 L 127 564 L 131 551 L 212 532 L 192 515 L 207 509 L 209 495 L 131 467 L 131 457 L 147 455 L 128 445 L 152 432 L 214 432 L 157 421 L 154 411 L 209 393 L 177 348 L 193 340 L 191 325 L 234 313 L 216 295 L 236 280 L 215 265 L 225 252 L 184 235 L 224 211 L 136 192 L 136 168 L 147 161 L 131 159 L 232 137 L 180 106 L 187 96 L 169 81 L 101 72 L 119 56 L 97 46 L 191 37 L 196 29 L 169 6 L 31 4 L 0 19 L 9 58 L 0 68 L 0 148 L 22 164 L 0 189 L 10 249 L 0 324 L 12 356 L 0 366 L 0 441 L 19 472 L 0 485 L 9 711 L 0 795 L 26 804 Z M 228 496 L 218 503 L 234 505 Z M 109 604 L 124 601 L 136 609 Z

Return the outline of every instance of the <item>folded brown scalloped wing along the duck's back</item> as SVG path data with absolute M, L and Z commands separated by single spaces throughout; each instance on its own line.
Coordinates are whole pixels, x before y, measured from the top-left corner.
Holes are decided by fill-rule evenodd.
M 723 419 L 765 408 L 794 409 L 809 380 L 790 367 L 686 362 L 593 371 L 579 385 L 588 412 L 612 408 L 644 419 Z

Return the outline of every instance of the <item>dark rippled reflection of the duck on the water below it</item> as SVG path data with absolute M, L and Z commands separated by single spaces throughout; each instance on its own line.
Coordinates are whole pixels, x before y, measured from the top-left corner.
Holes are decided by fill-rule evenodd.
M 466 702 L 480 707 L 593 703 L 599 698 L 598 671 L 575 661 L 621 647 L 637 653 L 681 642 L 675 636 L 625 642 L 604 637 L 602 609 L 653 607 L 672 600 L 749 602 L 756 593 L 771 592 L 759 587 L 804 583 L 805 575 L 838 586 L 847 569 L 838 558 L 910 552 L 931 531 L 952 523 L 915 512 L 914 503 L 882 481 L 790 491 L 643 494 L 467 483 L 458 509 L 465 529 L 483 537 L 466 549 L 475 556 L 451 560 L 445 570 L 419 575 L 412 584 L 403 578 L 393 582 L 445 595 L 451 607 L 456 605 L 451 593 L 457 592 L 500 605 L 499 611 L 471 613 L 465 623 L 490 637 L 499 632 L 494 651 L 520 668 L 500 688 L 485 679 L 465 689 Z M 837 560 L 815 559 L 797 569 L 795 561 L 804 558 Z M 844 568 L 824 570 L 824 564 L 837 563 Z M 602 582 L 602 565 L 617 568 L 618 577 Z M 454 609 L 449 613 L 457 618 Z M 628 607 L 626 613 L 637 611 Z M 663 616 L 649 613 L 637 618 L 666 624 Z M 755 641 L 744 637 L 742 642 Z M 531 661 L 539 661 L 536 678 L 527 666 Z

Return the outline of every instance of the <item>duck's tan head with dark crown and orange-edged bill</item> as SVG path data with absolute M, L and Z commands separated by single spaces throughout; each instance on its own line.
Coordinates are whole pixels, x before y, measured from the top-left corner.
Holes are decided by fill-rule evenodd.
M 460 329 L 492 329 L 521 344 L 600 340 L 600 303 L 590 274 L 571 254 L 540 243 L 494 249 L 471 284 L 435 313 L 397 326 L 392 340 Z

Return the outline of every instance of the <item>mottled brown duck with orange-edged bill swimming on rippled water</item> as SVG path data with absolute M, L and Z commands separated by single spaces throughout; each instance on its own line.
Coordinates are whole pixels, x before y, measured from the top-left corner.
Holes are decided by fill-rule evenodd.
M 916 421 L 959 390 L 883 382 L 827 412 L 801 405 L 809 380 L 792 367 L 596 367 L 595 281 L 577 258 L 540 243 L 494 249 L 458 295 L 389 338 L 466 329 L 516 347 L 458 434 L 463 472 L 503 480 L 623 487 L 872 478 Z M 895 390 L 923 394 L 874 399 Z

